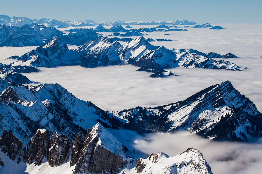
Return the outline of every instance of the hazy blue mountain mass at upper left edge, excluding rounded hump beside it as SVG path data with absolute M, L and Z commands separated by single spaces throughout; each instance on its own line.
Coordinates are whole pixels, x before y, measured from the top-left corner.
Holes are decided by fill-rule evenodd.
M 40 25 L 9 27 L 3 24 L 0 27 L 0 46 L 38 46 L 45 44 L 54 36 L 61 34 L 56 28 Z

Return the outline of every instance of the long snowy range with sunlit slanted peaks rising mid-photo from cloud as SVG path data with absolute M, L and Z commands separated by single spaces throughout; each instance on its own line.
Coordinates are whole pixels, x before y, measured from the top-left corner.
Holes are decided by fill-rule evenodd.
M 80 31 L 79 31 L 80 32 Z M 92 38 L 93 39 L 93 38 Z M 18 58 L 12 65 L 28 65 L 35 67 L 55 67 L 61 65 L 81 65 L 83 67 L 97 67 L 107 65 L 132 64 L 140 68 L 159 69 L 185 68 L 212 68 L 242 70 L 224 60 L 208 58 L 205 53 L 189 49 L 169 50 L 162 46 L 149 44 L 143 36 L 130 40 L 123 45 L 114 39 L 99 37 L 89 40 L 75 50 L 68 50 L 62 37 L 54 37 L 44 46 L 37 47 Z

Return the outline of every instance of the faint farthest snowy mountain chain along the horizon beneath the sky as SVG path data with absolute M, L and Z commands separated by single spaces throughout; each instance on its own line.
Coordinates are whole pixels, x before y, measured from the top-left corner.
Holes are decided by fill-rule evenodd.
M 194 21 L 115 21 L 115 22 L 94 22 L 92 20 L 83 20 L 83 21 L 58 21 L 55 19 L 47 19 L 42 18 L 40 20 L 37 19 L 29 19 L 28 17 L 9 17 L 7 15 L 0 15 L 0 25 L 6 24 L 8 26 L 23 26 L 25 24 L 37 23 L 44 26 L 51 26 L 55 28 L 64 28 L 68 26 L 96 26 L 98 24 L 103 25 L 196 25 Z

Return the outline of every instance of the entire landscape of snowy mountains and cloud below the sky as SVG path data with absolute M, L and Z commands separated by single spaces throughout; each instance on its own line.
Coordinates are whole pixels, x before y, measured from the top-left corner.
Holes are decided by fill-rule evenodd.
M 0 173 L 260 173 L 261 47 L 261 23 L 0 15 Z

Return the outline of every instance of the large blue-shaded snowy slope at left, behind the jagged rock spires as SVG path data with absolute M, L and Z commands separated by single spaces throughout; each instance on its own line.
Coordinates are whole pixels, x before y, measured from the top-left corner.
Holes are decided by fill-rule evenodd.
M 8 86 L 5 83 L 3 85 Z M 79 131 L 85 133 L 94 126 L 99 116 L 109 118 L 107 112 L 90 102 L 77 99 L 57 83 L 38 86 L 9 85 L 2 90 L 1 130 L 12 130 L 23 142 L 27 142 L 37 129 L 50 132 L 56 130 L 73 139 Z

